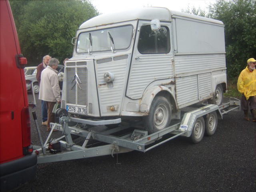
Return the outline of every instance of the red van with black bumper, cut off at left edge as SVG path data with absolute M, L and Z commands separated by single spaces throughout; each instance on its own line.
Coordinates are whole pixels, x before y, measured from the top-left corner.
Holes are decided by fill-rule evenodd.
M 8 0 L 0 0 L 0 191 L 36 179 L 37 157 L 30 138 L 30 117 L 18 35 Z

